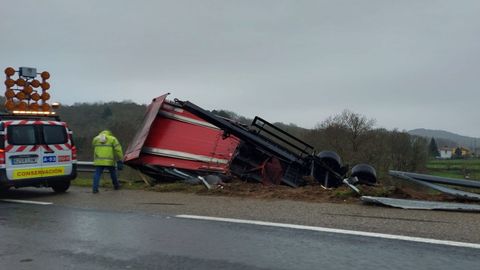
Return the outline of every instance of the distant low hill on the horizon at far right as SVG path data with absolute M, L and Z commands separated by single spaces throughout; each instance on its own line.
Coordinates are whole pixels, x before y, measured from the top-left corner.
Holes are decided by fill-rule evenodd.
M 459 134 L 455 134 L 453 132 L 448 132 L 445 130 L 432 130 L 432 129 L 424 129 L 418 128 L 408 131 L 411 135 L 417 135 L 420 137 L 426 138 L 435 138 L 437 141 L 438 147 L 448 146 L 448 147 L 455 147 L 455 146 L 464 146 L 470 149 L 480 147 L 480 138 L 462 136 Z

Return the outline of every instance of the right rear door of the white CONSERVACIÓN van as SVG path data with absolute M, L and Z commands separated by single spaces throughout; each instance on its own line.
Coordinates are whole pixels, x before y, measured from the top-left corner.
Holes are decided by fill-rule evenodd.
M 43 153 L 42 167 L 48 176 L 72 173 L 72 147 L 65 123 L 49 121 L 40 128 Z

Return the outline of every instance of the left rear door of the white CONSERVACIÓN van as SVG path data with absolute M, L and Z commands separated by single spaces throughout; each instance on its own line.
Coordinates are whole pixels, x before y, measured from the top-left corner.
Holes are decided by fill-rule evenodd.
M 24 121 L 6 125 L 5 167 L 8 180 L 42 177 L 43 149 L 37 126 Z

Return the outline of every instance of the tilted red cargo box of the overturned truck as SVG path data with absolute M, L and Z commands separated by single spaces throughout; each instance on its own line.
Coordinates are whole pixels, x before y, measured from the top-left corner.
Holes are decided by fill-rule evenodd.
M 154 178 L 226 174 L 240 140 L 168 101 L 153 99 L 125 163 Z M 182 175 L 184 177 L 182 177 Z

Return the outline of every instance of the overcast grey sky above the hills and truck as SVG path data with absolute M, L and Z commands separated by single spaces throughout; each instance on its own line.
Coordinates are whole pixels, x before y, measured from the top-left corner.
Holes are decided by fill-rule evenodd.
M 343 109 L 480 137 L 480 1 L 1 0 L 0 68 L 64 104 L 171 92 L 312 128 Z

